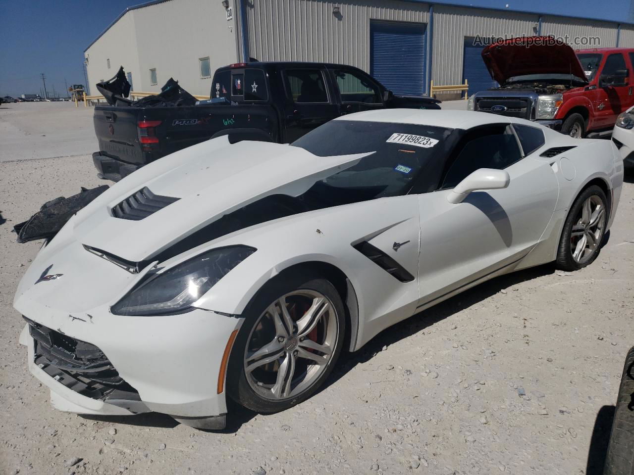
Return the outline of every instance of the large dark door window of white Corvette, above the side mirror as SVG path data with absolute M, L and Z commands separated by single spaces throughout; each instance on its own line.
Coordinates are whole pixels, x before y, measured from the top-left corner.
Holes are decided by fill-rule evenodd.
M 455 187 L 478 168 L 502 170 L 521 159 L 517 139 L 509 127 L 476 133 L 466 138 L 444 176 L 441 189 Z

